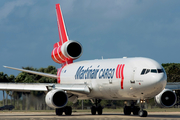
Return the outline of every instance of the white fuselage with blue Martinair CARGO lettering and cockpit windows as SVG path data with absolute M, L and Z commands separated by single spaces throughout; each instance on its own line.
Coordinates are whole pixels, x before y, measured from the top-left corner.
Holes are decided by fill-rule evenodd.
M 166 83 L 163 67 L 140 57 L 81 61 L 64 66 L 60 73 L 60 84 L 86 84 L 91 89 L 79 99 L 148 99 L 160 93 Z

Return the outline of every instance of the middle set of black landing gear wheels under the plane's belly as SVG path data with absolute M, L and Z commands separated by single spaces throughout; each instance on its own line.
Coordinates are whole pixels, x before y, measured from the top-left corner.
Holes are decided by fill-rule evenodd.
M 96 112 L 98 113 L 98 115 L 102 115 L 103 107 L 100 105 L 100 102 L 101 102 L 101 99 L 95 99 L 95 106 L 91 107 L 91 114 L 92 115 L 96 115 Z

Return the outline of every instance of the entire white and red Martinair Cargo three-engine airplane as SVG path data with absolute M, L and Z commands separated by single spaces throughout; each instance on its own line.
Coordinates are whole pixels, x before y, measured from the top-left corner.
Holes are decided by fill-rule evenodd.
M 57 83 L 0 83 L 0 90 L 44 91 L 46 104 L 55 109 L 56 115 L 72 114 L 68 101 L 90 99 L 93 102 L 91 114 L 101 115 L 101 100 L 131 100 L 136 104 L 125 105 L 124 114 L 146 117 L 145 100 L 155 98 L 162 107 L 176 103 L 175 90 L 178 83 L 167 83 L 164 68 L 155 60 L 143 57 L 87 60 L 73 63 L 82 55 L 82 45 L 69 40 L 60 4 L 56 4 L 57 24 L 60 41 L 54 44 L 51 57 L 61 64 L 57 75 L 4 66 L 14 70 L 56 78 Z M 133 102 L 132 102 L 133 103 Z

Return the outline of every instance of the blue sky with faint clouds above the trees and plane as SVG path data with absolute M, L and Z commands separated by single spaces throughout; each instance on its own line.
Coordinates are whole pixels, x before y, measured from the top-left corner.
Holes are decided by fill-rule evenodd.
M 51 59 L 59 41 L 55 4 L 60 3 L 71 40 L 83 46 L 76 61 L 148 57 L 179 63 L 178 0 L 8 0 L 0 1 L 0 71 L 2 66 L 60 67 Z

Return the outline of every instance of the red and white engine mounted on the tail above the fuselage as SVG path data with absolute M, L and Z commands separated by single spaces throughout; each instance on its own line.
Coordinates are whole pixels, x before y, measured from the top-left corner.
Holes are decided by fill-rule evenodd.
M 54 44 L 54 49 L 51 53 L 51 58 L 54 62 L 62 64 L 66 61 L 72 61 L 82 55 L 82 46 L 76 41 L 69 40 L 62 46 L 59 42 Z

